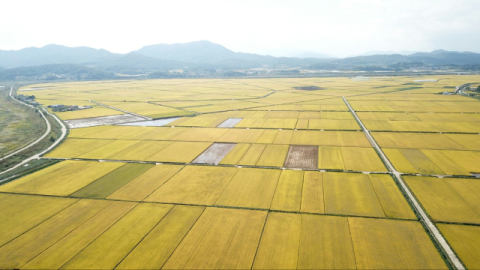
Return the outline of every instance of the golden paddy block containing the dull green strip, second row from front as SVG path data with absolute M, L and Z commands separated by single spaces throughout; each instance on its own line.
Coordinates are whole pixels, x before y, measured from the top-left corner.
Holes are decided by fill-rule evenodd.
M 67 160 L 0 192 L 416 219 L 387 174 Z

